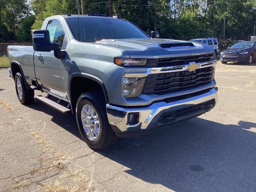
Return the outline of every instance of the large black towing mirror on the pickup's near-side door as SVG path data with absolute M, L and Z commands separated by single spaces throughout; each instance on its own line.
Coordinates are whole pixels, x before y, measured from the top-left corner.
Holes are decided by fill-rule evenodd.
M 33 30 L 32 42 L 34 51 L 60 51 L 61 46 L 59 43 L 50 42 L 50 33 L 48 30 Z

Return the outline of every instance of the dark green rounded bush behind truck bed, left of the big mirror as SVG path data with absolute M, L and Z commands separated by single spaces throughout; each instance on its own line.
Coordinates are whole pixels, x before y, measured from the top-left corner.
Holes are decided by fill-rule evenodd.
M 32 41 L 31 27 L 34 24 L 36 17 L 34 15 L 24 18 L 17 30 L 18 41 Z

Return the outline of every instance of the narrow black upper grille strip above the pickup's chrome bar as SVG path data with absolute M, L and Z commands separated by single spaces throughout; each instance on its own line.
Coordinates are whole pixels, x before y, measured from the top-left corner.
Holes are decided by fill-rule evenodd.
M 177 65 L 186 65 L 189 62 L 207 62 L 213 59 L 213 53 L 184 56 L 184 57 L 170 57 L 170 58 L 158 58 L 158 59 L 148 59 L 146 66 L 157 66 L 157 67 L 168 67 Z

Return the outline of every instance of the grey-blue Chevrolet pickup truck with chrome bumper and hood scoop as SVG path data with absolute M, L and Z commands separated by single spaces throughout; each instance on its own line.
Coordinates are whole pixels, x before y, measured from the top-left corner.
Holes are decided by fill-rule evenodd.
M 46 18 L 32 32 L 33 46 L 8 46 L 18 100 L 72 112 L 98 150 L 210 111 L 218 91 L 214 50 L 158 37 L 119 16 Z

